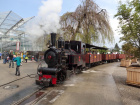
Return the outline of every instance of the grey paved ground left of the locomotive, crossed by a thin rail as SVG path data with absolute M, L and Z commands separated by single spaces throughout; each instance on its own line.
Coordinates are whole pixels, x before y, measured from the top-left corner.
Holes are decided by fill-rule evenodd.
M 38 86 L 35 84 L 35 75 L 32 75 L 32 78 L 27 76 L 36 74 L 37 66 L 38 64 L 35 62 L 22 63 L 20 67 L 21 75 L 15 76 L 16 68 L 9 68 L 8 63 L 3 64 L 0 60 L 0 105 L 12 105 L 38 89 Z M 23 78 L 25 76 L 27 77 Z

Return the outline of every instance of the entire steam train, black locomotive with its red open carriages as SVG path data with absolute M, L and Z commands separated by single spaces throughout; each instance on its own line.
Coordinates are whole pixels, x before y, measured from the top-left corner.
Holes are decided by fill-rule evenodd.
M 86 53 L 86 49 L 104 49 L 81 41 L 64 41 L 58 38 L 56 47 L 56 34 L 51 33 L 51 45 L 44 54 L 45 63 L 48 67 L 37 69 L 37 85 L 50 86 L 69 78 L 71 74 L 80 73 L 84 68 L 103 61 L 122 59 L 124 54 L 92 54 Z

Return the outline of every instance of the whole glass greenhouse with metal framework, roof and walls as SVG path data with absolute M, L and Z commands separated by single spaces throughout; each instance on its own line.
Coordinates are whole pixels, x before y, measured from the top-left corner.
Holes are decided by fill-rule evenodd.
M 0 12 L 0 51 L 16 50 L 16 43 L 20 42 L 19 51 L 31 50 L 32 42 L 25 33 L 25 25 L 34 17 L 23 19 L 12 11 Z

